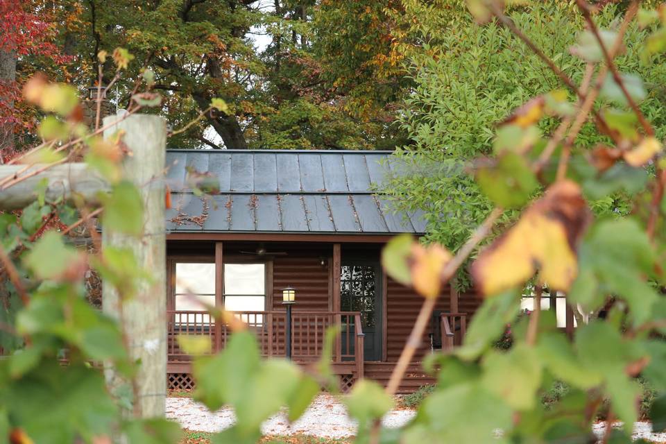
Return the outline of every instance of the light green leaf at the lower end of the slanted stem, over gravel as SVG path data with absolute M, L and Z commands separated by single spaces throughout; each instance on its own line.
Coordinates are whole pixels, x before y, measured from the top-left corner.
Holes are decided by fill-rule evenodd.
M 393 398 L 382 386 L 370 379 L 361 379 L 354 384 L 352 393 L 345 398 L 349 415 L 359 421 L 359 427 L 366 427 L 371 420 L 382 418 L 393 408 Z

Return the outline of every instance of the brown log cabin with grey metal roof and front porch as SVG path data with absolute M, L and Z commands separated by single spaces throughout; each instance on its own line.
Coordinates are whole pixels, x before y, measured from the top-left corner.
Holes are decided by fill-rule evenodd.
M 167 314 L 170 389 L 193 386 L 179 334 L 222 350 L 228 325 L 199 303 L 224 307 L 257 335 L 266 357 L 307 365 L 338 325 L 332 367 L 343 390 L 361 377 L 382 384 L 422 305 L 379 263 L 395 234 L 425 232 L 422 214 L 396 214 L 376 190 L 395 169 L 390 151 L 168 150 Z M 219 180 L 197 196 L 193 171 Z M 446 288 L 401 392 L 433 382 L 420 361 L 461 343 L 480 300 Z

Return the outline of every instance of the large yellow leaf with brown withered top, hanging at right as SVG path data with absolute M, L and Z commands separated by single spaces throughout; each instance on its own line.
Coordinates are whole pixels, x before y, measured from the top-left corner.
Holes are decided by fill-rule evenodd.
M 540 269 L 542 284 L 567 291 L 578 271 L 575 247 L 589 222 L 580 187 L 570 180 L 557 182 L 479 255 L 472 278 L 482 293 L 493 295 Z

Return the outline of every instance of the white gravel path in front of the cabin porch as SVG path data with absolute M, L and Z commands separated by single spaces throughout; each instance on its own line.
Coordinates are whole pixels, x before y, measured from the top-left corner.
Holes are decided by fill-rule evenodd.
M 385 427 L 400 427 L 407 424 L 415 413 L 413 410 L 393 410 L 386 413 L 382 423 Z M 191 398 L 167 398 L 167 418 L 177 420 L 182 427 L 198 432 L 219 432 L 231 427 L 236 420 L 234 411 L 228 407 L 211 413 L 203 404 Z M 331 395 L 319 395 L 298 421 L 289 425 L 287 417 L 280 413 L 264 422 L 262 433 L 344 438 L 354 436 L 356 427 L 356 422 L 347 416 L 339 400 Z

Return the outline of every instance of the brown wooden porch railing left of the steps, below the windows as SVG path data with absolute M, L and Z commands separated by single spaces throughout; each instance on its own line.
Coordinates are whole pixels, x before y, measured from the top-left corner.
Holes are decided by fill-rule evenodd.
M 264 357 L 286 356 L 286 313 L 284 311 L 237 311 L 234 315 L 257 336 Z M 190 361 L 180 350 L 178 335 L 207 336 L 211 350 L 225 348 L 232 334 L 228 324 L 216 324 L 202 311 L 167 311 L 167 354 L 169 362 Z M 355 311 L 293 311 L 291 315 L 291 357 L 295 361 L 315 361 L 323 353 L 328 327 L 339 325 L 340 334 L 333 347 L 334 363 L 363 360 L 364 335 L 361 316 Z M 361 364 L 362 365 L 362 364 Z M 361 373 L 362 374 L 362 373 Z

